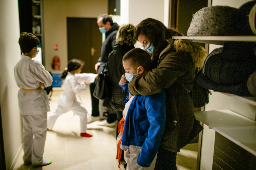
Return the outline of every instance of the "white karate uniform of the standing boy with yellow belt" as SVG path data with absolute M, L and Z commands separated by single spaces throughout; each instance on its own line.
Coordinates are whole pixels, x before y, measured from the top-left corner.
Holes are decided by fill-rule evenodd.
M 20 88 L 18 101 L 23 120 L 23 161 L 38 164 L 43 161 L 45 148 L 47 112 L 50 111 L 48 95 L 45 90 L 26 91 L 21 88 L 36 89 L 40 82 L 45 87 L 51 86 L 52 76 L 40 62 L 22 55 L 14 68 L 14 77 Z

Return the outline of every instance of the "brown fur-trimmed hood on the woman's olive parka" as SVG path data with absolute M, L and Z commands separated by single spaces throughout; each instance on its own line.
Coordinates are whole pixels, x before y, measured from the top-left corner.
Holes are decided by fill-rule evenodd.
M 201 68 L 204 64 L 204 60 L 207 56 L 205 49 L 196 42 L 191 40 L 174 40 L 169 38 L 166 40 L 169 45 L 160 53 L 160 56 L 171 49 L 173 46 L 176 49 L 176 52 L 188 52 L 190 53 L 192 60 L 195 64 L 195 67 Z

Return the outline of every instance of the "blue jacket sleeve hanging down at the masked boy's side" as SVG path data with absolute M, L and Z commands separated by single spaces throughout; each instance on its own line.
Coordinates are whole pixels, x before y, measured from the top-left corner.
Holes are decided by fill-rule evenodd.
M 166 119 L 165 100 L 165 92 L 149 95 L 145 99 L 145 108 L 150 128 L 137 159 L 137 163 L 140 166 L 149 167 L 160 146 Z

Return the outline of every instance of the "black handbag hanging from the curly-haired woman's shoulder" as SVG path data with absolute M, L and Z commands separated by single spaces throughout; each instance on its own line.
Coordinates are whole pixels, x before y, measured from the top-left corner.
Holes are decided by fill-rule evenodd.
M 106 62 L 102 72 L 98 74 L 98 81 L 93 91 L 94 97 L 101 100 L 111 97 L 111 80 L 108 76 L 107 64 L 108 62 Z

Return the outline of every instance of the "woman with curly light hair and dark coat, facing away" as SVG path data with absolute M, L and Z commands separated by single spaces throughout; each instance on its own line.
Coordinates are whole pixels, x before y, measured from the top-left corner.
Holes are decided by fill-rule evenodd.
M 132 24 L 120 26 L 117 32 L 115 46 L 108 58 L 108 73 L 112 82 L 110 106 L 117 113 L 117 123 L 122 119 L 122 111 L 124 110 L 126 98 L 126 94 L 122 91 L 122 88 L 118 84 L 122 75 L 125 73 L 124 67 L 122 66 L 122 57 L 128 51 L 134 49 L 135 42 L 134 26 Z

